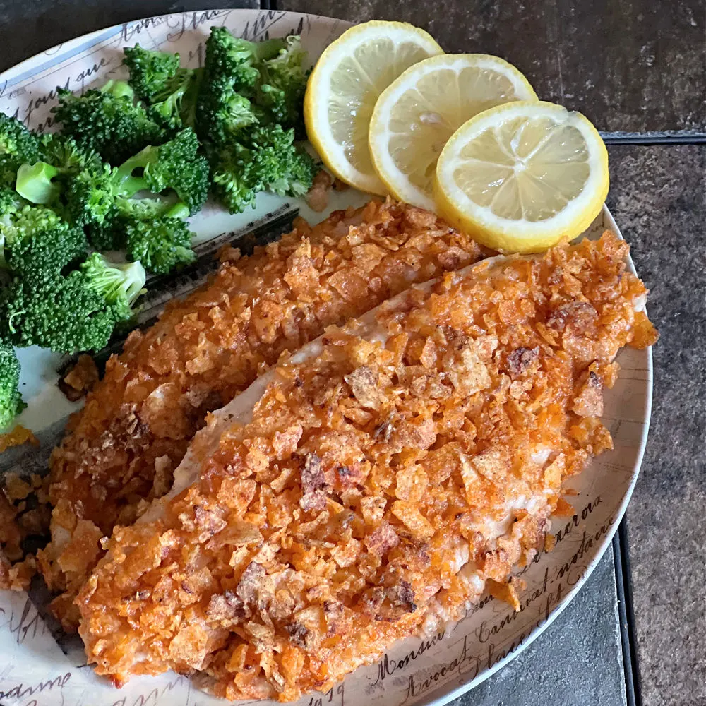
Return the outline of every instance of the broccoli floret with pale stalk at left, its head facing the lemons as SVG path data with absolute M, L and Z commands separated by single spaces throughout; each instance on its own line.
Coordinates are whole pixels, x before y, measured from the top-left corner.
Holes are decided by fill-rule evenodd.
M 189 212 L 196 213 L 208 196 L 208 162 L 198 154 L 198 146 L 196 133 L 186 128 L 163 145 L 146 147 L 118 168 L 124 191 L 173 189 Z

